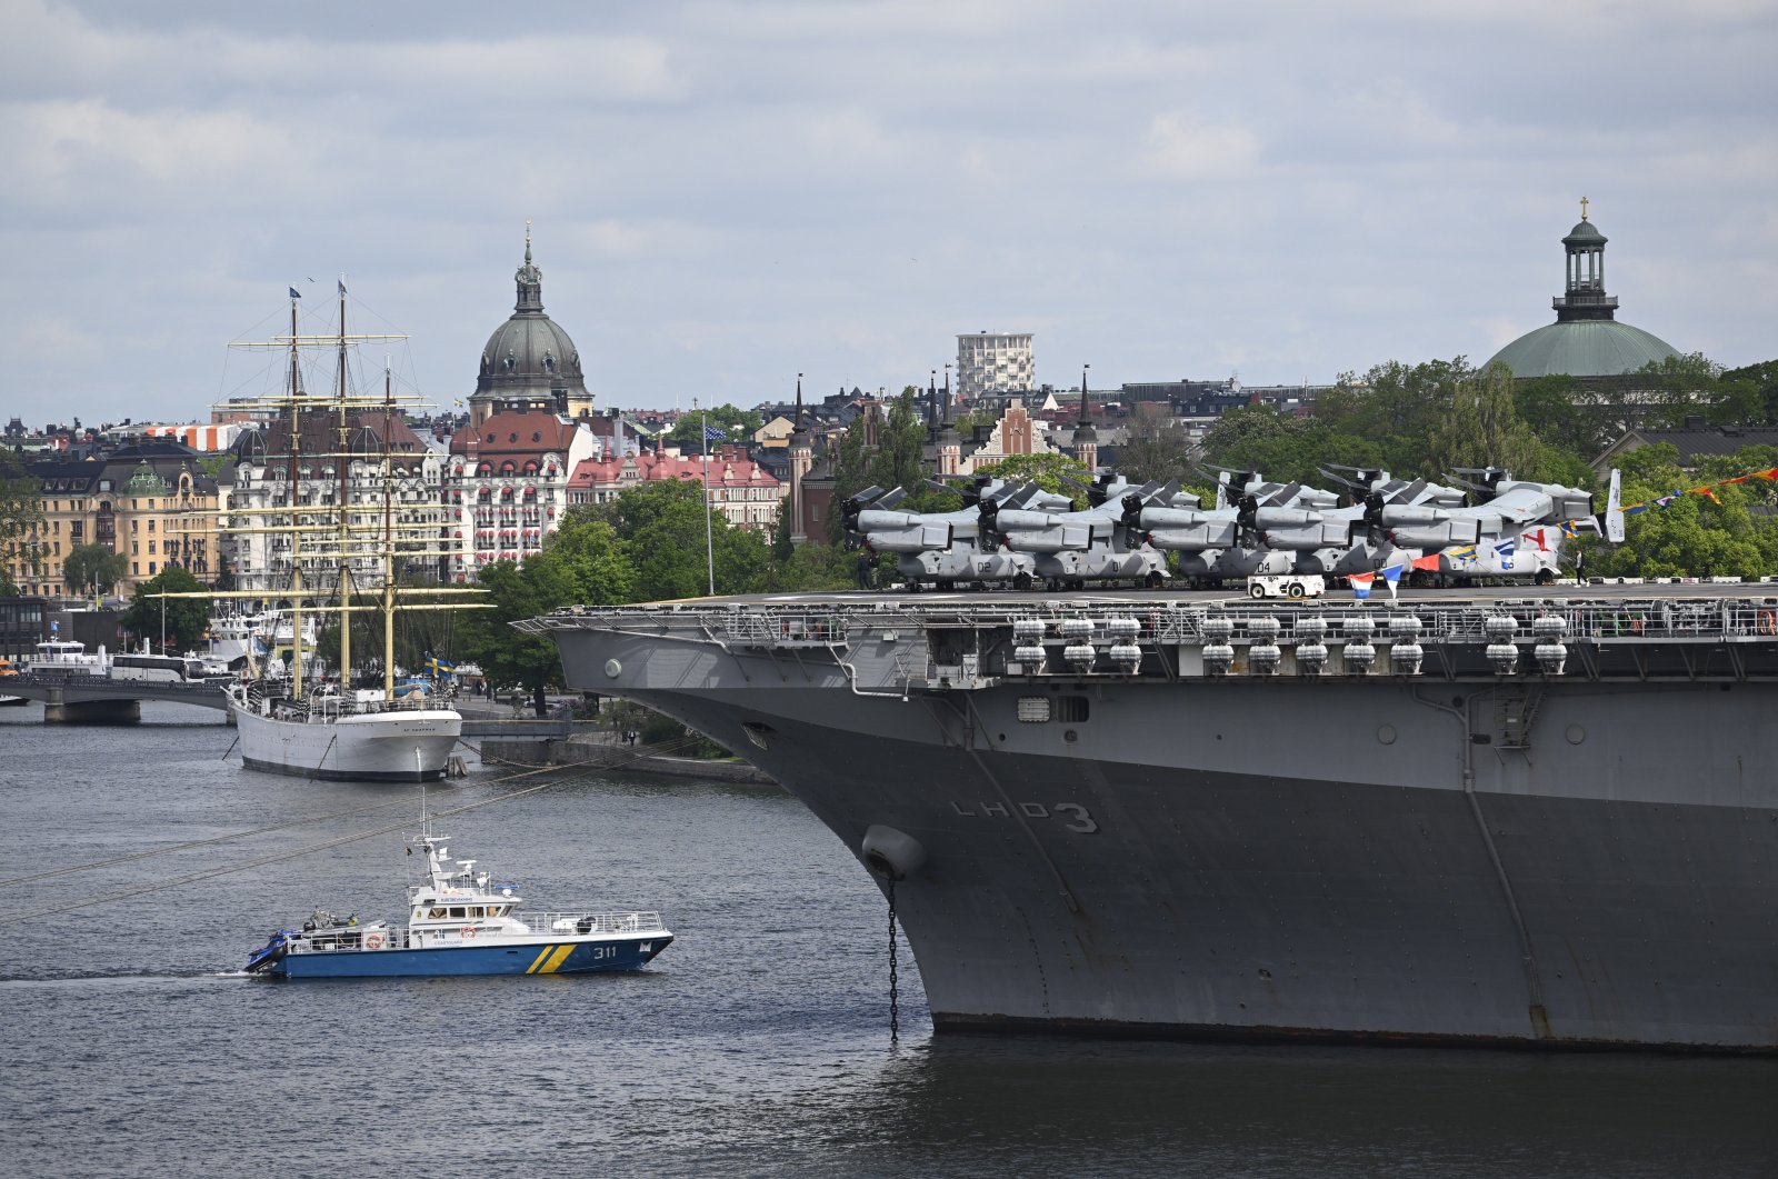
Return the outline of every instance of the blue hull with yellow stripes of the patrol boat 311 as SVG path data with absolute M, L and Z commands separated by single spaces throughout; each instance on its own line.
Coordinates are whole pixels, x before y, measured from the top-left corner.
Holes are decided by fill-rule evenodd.
M 267 973 L 279 978 L 448 978 L 635 971 L 670 942 L 672 934 L 653 934 L 626 939 L 491 939 L 425 950 L 316 950 L 286 953 Z

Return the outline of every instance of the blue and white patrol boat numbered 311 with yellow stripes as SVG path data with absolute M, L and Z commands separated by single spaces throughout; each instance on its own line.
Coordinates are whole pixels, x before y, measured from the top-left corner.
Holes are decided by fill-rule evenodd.
M 427 878 L 407 887 L 407 925 L 361 923 L 316 910 L 277 930 L 247 973 L 281 978 L 432 978 L 633 971 L 672 944 L 658 912 L 521 912 L 516 884 L 493 884 L 475 861 L 450 859 L 444 836 L 421 829 Z

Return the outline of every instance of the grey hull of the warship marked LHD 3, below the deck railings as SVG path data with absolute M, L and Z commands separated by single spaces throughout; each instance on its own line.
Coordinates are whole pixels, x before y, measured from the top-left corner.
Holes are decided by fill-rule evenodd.
M 861 861 L 917 848 L 894 903 L 937 1028 L 1778 1049 L 1778 685 L 901 697 L 557 638 L 571 685 L 747 756 Z M 1079 720 L 1021 722 L 1035 695 Z

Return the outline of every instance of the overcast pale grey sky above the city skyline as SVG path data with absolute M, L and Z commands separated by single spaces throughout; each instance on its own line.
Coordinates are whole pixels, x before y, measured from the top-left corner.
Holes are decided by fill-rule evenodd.
M 201 420 L 284 288 L 475 388 L 533 219 L 599 405 L 1326 382 L 1552 320 L 1778 357 L 1778 4 L 0 0 L 0 416 Z M 379 357 L 380 361 L 380 357 Z

